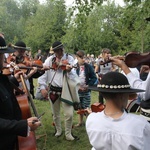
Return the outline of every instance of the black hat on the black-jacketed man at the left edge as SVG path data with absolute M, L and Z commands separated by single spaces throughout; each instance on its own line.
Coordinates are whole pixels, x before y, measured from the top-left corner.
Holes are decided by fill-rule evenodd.
M 6 45 L 5 39 L 0 36 L 0 53 L 13 53 L 14 49 Z

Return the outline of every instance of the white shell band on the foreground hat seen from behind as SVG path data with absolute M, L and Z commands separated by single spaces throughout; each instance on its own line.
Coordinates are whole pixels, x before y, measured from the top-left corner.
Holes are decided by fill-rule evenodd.
M 98 84 L 97 87 L 104 88 L 104 89 L 127 89 L 130 88 L 130 85 L 105 85 L 105 84 Z

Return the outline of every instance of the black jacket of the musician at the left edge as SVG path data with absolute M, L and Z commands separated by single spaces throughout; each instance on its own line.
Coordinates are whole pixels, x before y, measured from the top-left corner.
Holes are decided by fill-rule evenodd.
M 27 136 L 27 120 L 21 118 L 10 81 L 0 74 L 0 150 L 13 150 L 17 136 Z

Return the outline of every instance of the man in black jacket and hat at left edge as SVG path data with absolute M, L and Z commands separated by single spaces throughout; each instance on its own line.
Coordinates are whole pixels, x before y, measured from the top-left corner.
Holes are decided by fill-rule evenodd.
M 40 126 L 37 117 L 22 120 L 22 114 L 16 97 L 13 93 L 8 77 L 2 74 L 4 53 L 13 53 L 14 50 L 6 46 L 5 40 L 0 37 L 0 149 L 14 150 L 17 136 L 28 136 L 29 129 L 35 130 Z M 32 121 L 36 121 L 32 124 Z

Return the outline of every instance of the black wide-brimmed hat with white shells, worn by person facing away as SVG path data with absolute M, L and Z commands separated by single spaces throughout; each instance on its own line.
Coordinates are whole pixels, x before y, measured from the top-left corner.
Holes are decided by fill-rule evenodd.
M 144 92 L 142 89 L 133 89 L 125 75 L 119 72 L 106 73 L 100 84 L 97 86 L 89 87 L 90 90 L 105 92 L 105 93 L 137 93 Z

